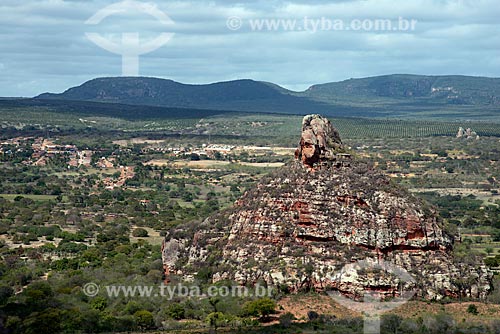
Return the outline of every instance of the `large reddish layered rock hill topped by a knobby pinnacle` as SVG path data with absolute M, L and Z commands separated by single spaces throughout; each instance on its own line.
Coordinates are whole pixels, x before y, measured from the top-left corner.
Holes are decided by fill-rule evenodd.
M 353 298 L 373 290 L 398 296 L 403 288 L 428 299 L 488 294 L 491 273 L 475 259 L 454 259 L 453 237 L 435 210 L 351 159 L 327 119 L 304 118 L 295 157 L 233 208 L 171 231 L 166 272 L 208 271 L 213 281 L 335 289 Z M 376 270 L 332 279 L 364 259 L 390 262 L 415 282 Z

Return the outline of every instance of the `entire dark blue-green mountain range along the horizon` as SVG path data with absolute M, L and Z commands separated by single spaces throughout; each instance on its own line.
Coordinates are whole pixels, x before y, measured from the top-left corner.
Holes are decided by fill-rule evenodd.
M 90 80 L 61 94 L 41 94 L 35 100 L 331 116 L 500 118 L 500 78 L 394 74 L 295 92 L 253 80 L 188 85 L 115 77 Z

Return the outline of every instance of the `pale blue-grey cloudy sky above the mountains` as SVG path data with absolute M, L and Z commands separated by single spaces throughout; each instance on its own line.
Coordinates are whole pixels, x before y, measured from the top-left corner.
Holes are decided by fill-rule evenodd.
M 393 73 L 500 77 L 498 0 L 0 1 L 0 96 L 121 75 L 305 90 Z

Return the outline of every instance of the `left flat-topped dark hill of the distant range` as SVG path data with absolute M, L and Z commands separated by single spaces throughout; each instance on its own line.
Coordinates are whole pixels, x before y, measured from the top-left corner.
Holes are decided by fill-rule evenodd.
M 253 80 L 187 85 L 145 77 L 98 78 L 62 94 L 45 93 L 37 99 L 291 113 L 321 108 L 322 104 L 293 95 L 282 87 Z

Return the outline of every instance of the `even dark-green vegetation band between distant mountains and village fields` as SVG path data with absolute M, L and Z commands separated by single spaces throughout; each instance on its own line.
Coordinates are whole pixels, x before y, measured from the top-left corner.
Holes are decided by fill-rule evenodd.
M 1 101 L 0 101 L 1 102 Z M 107 105 L 106 105 L 107 106 Z M 113 105 L 111 105 L 113 106 Z M 86 114 L 78 109 L 58 112 L 49 107 L 2 107 L 3 130 L 0 138 L 20 134 L 32 136 L 65 136 L 72 143 L 84 142 L 103 147 L 110 140 L 130 138 L 169 138 L 179 143 L 225 142 L 245 145 L 295 146 L 300 131 L 301 117 L 278 114 L 245 114 L 230 112 L 186 113 L 185 118 L 174 118 L 178 111 L 157 116 L 129 119 L 121 109 L 108 113 L 106 110 Z M 132 109 L 133 116 L 140 113 Z M 441 111 L 436 111 L 442 114 Z M 142 114 L 141 114 L 142 115 Z M 193 117 L 197 115 L 196 117 Z M 332 123 L 343 139 L 371 138 L 432 138 L 453 137 L 459 127 L 472 128 L 480 137 L 500 137 L 500 122 L 411 120 L 394 118 L 331 117 Z M 474 119 L 474 118 L 471 118 Z M 23 130 L 19 130 L 22 128 Z

